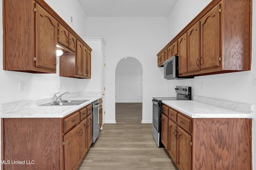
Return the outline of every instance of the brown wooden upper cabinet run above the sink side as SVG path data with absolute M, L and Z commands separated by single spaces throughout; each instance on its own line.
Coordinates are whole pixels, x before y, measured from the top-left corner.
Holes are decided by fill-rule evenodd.
M 4 70 L 56 73 L 57 44 L 60 60 L 68 60 L 60 63 L 60 76 L 90 78 L 92 49 L 44 0 L 3 0 Z

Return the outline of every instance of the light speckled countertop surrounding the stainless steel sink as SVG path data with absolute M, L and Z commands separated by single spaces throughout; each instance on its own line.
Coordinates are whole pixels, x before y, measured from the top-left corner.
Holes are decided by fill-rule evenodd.
M 31 105 L 34 101 L 20 101 L 16 103 L 10 103 L 0 106 L 0 117 L 1 118 L 63 118 L 74 111 L 81 109 L 82 107 L 89 105 L 90 103 L 100 99 L 100 95 L 79 95 L 76 97 L 70 97 L 68 99 L 77 100 L 89 100 L 85 103 L 75 106 L 38 106 L 44 103 L 49 103 L 48 100 L 36 101 L 37 103 L 28 107 L 25 105 Z M 29 104 L 28 104 L 29 103 Z M 6 107 L 4 109 L 3 107 Z M 8 111 L 10 107 L 12 111 Z M 15 109 L 18 108 L 18 109 Z

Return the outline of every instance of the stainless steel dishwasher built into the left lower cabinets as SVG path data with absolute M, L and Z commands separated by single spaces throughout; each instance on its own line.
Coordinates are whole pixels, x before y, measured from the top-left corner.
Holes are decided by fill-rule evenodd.
M 96 141 L 100 133 L 100 110 L 99 101 L 92 103 L 92 143 Z

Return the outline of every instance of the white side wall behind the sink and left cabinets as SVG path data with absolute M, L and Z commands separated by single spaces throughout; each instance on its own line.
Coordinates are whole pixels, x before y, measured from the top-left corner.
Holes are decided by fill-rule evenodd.
M 67 24 L 70 24 L 70 14 L 73 15 L 72 28 L 80 35 L 86 36 L 86 15 L 77 1 L 65 0 L 61 8 L 58 0 L 46 0 L 50 6 L 62 17 Z M 1 9 L 1 30 L 2 30 L 2 0 L 0 0 Z M 0 35 L 0 103 L 9 103 L 12 101 L 21 101 L 27 99 L 39 99 L 52 97 L 54 93 L 60 91 L 70 91 L 75 93 L 80 91 L 79 79 L 60 77 L 59 64 L 57 64 L 56 74 L 32 74 L 15 71 L 3 70 L 2 58 L 2 34 Z M 57 57 L 58 59 L 58 57 Z M 24 91 L 19 92 L 19 81 L 24 81 Z M 59 82 L 62 89 L 59 89 Z

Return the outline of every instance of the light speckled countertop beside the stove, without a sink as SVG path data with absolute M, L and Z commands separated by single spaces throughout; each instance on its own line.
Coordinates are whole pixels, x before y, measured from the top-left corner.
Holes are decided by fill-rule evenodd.
M 198 96 L 192 101 L 166 100 L 162 103 L 192 118 L 254 118 L 255 112 L 252 104 Z

